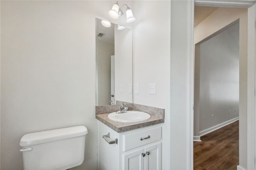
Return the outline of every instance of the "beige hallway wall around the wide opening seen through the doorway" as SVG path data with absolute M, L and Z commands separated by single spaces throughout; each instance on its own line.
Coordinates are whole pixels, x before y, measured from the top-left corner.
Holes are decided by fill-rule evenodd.
M 221 18 L 221 20 L 220 20 Z M 239 165 L 247 167 L 247 9 L 218 8 L 194 28 L 194 44 L 239 19 Z

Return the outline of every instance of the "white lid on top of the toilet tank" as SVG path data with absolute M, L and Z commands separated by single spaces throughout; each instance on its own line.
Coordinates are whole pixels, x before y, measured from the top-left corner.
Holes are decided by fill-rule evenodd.
M 28 133 L 20 139 L 20 146 L 31 146 L 56 140 L 74 138 L 84 136 L 88 130 L 84 126 L 59 128 L 54 130 L 46 130 L 41 132 Z

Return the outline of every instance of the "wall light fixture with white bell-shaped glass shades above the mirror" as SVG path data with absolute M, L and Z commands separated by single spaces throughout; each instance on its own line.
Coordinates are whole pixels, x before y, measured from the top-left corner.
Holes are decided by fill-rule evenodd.
M 127 23 L 130 23 L 130 22 L 134 22 L 135 21 L 135 18 L 132 14 L 132 10 L 128 7 L 127 4 L 123 4 L 121 6 L 121 8 L 123 6 L 126 6 L 126 22 Z M 122 12 L 121 8 L 119 8 L 119 5 L 118 5 L 118 2 L 116 2 L 113 6 L 112 6 L 112 9 L 110 11 L 108 11 L 108 15 L 111 17 L 111 18 L 114 18 L 114 19 L 118 19 L 119 16 L 122 16 L 124 15 L 124 12 Z

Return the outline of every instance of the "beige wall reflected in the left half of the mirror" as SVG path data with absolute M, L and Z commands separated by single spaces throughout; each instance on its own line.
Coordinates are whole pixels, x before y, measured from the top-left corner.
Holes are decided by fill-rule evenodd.
M 98 59 L 98 105 L 109 105 L 111 93 L 111 55 L 114 55 L 114 44 L 97 41 Z

